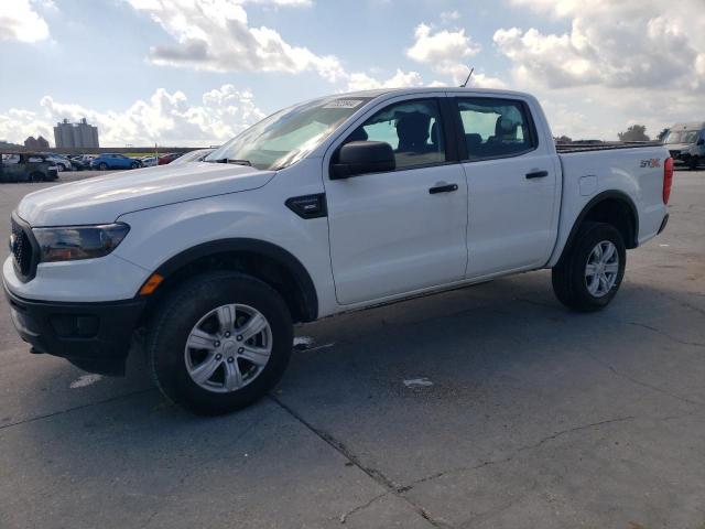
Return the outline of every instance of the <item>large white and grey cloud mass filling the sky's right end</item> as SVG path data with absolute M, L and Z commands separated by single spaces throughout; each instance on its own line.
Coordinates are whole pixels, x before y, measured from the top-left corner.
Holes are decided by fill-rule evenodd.
M 654 136 L 675 121 L 705 115 L 705 32 L 697 31 L 705 28 L 702 0 L 511 3 L 568 24 L 560 33 L 509 28 L 494 36 L 512 62 L 512 85 L 553 104 L 546 111 L 557 133 L 609 139 L 629 122 L 640 122 Z

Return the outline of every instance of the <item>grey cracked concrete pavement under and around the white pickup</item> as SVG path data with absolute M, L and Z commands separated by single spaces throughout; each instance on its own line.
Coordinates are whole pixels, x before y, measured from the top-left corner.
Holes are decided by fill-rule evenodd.
M 4 218 L 45 185 L 3 184 Z M 324 320 L 216 419 L 165 403 L 139 350 L 124 379 L 30 355 L 2 302 L 0 527 L 702 529 L 703 234 L 705 172 L 679 171 L 606 311 L 542 271 Z

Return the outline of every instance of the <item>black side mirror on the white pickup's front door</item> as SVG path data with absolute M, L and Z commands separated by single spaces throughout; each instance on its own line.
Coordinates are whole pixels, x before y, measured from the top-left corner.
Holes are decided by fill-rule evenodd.
M 330 164 L 330 180 L 397 169 L 392 145 L 384 141 L 351 141 L 344 144 L 337 162 Z

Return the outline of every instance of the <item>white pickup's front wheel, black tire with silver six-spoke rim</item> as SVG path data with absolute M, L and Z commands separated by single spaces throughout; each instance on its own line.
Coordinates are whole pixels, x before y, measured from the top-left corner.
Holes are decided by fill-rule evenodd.
M 245 408 L 281 379 L 293 342 L 289 309 L 267 283 L 210 272 L 173 291 L 148 330 L 152 378 L 198 414 Z

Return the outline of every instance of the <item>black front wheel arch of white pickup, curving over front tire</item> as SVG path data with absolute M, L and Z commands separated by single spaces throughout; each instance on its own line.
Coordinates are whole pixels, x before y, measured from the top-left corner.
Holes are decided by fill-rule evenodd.
M 164 280 L 149 296 L 145 314 L 181 279 L 208 270 L 240 271 L 267 282 L 282 295 L 294 322 L 318 317 L 316 289 L 301 261 L 280 246 L 249 238 L 204 242 L 167 259 L 154 271 Z

